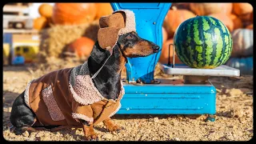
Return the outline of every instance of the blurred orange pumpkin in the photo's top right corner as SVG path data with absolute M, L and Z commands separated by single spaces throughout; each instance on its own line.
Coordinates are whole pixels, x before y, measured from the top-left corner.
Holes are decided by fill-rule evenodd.
M 250 14 L 251 12 L 253 12 L 253 10 L 254 10 L 254 7 L 251 6 L 250 3 L 246 3 L 246 2 L 233 3 L 233 12 L 238 16 L 243 14 Z

